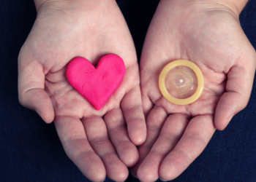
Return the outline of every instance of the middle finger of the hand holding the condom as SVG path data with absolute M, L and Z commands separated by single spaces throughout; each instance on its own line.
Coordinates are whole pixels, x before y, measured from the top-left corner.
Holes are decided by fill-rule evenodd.
M 140 181 L 157 181 L 162 159 L 176 146 L 189 123 L 189 117 L 184 114 L 171 114 L 162 127 L 159 138 L 138 168 Z

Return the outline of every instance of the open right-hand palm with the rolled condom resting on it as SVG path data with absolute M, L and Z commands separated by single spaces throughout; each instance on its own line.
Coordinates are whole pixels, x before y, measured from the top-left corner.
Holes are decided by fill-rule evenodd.
M 238 12 L 224 2 L 159 2 L 140 60 L 147 139 L 138 149 L 140 162 L 132 168 L 140 181 L 178 177 L 205 149 L 215 129 L 224 130 L 248 103 L 255 50 Z M 178 59 L 197 64 L 205 80 L 203 94 L 187 106 L 168 102 L 158 86 L 162 68 Z

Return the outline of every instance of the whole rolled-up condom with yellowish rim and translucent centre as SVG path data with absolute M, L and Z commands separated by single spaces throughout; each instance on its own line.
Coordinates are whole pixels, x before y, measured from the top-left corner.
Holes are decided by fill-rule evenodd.
M 174 60 L 159 76 L 162 95 L 177 105 L 195 102 L 203 92 L 204 80 L 200 68 L 189 60 Z

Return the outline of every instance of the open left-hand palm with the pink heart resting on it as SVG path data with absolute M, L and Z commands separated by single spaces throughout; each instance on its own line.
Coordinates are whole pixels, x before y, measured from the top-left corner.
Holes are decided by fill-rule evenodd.
M 127 167 L 138 162 L 135 145 L 146 140 L 137 57 L 124 17 L 113 0 L 36 5 L 37 20 L 18 58 L 20 103 L 47 123 L 54 119 L 67 156 L 89 180 L 108 175 L 124 181 Z M 67 82 L 65 71 L 72 58 L 96 66 L 109 53 L 123 58 L 126 73 L 97 111 Z

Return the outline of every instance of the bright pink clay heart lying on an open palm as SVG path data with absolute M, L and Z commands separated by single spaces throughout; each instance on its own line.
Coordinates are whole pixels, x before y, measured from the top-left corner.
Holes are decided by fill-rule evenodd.
M 67 66 L 66 75 L 75 90 L 99 110 L 119 86 L 124 72 L 124 61 L 110 54 L 102 57 L 96 68 L 86 58 L 74 58 Z

